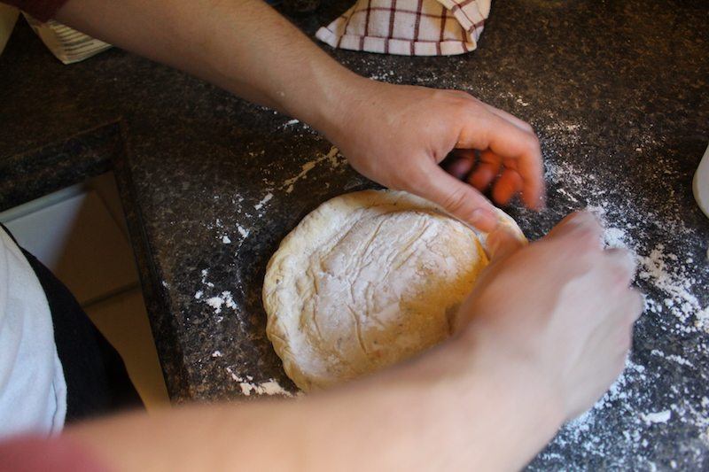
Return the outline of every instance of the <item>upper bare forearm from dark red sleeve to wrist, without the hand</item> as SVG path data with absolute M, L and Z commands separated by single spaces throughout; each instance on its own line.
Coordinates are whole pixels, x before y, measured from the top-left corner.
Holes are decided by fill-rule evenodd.
M 321 130 L 363 81 L 261 0 L 69 0 L 57 18 Z

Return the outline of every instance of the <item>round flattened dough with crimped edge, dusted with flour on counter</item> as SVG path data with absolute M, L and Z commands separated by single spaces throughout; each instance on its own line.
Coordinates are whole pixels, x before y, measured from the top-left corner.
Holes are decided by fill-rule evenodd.
M 267 334 L 286 374 L 303 391 L 323 389 L 448 337 L 487 265 L 486 236 L 401 191 L 320 205 L 284 238 L 263 284 Z

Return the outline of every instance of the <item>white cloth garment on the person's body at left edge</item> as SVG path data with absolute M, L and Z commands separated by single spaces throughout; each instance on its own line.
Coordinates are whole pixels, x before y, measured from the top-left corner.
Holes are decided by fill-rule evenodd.
M 0 438 L 64 426 L 66 382 L 35 272 L 0 228 Z

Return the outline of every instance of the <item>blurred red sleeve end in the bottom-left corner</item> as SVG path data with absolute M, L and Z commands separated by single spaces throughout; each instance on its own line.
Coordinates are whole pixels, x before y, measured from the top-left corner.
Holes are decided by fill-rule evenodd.
M 0 472 L 107 472 L 81 445 L 65 437 L 0 440 Z

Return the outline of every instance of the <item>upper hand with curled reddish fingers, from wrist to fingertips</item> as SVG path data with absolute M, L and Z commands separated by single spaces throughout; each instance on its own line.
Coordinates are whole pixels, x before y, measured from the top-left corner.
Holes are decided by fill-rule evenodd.
M 497 217 L 479 190 L 492 186 L 501 205 L 518 193 L 530 208 L 543 205 L 539 141 L 509 113 L 462 91 L 368 80 L 357 82 L 345 103 L 326 135 L 373 181 L 425 197 L 484 231 Z M 456 176 L 438 166 L 454 149 Z M 456 178 L 469 173 L 474 187 Z

